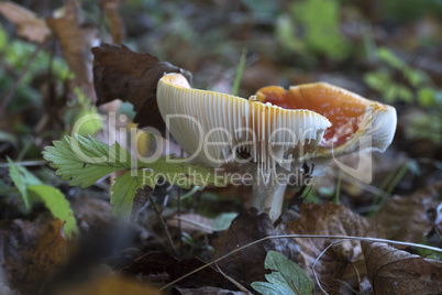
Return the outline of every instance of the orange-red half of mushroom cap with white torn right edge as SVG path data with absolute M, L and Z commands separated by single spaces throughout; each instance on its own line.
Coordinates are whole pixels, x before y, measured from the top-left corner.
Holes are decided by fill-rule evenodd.
M 327 83 L 291 86 L 288 90 L 267 86 L 256 97 L 264 103 L 308 109 L 328 118 L 332 125 L 327 129 L 316 156 L 331 157 L 366 149 L 384 152 L 396 132 L 394 107 Z

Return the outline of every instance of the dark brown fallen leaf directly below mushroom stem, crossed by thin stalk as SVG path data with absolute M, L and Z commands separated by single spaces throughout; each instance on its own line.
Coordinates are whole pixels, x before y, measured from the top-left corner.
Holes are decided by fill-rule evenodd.
M 244 210 L 220 238 L 216 245 L 216 258 L 258 239 L 283 233 L 274 228 L 268 215 L 258 215 L 255 208 Z M 269 239 L 225 258 L 218 265 L 222 266 L 226 274 L 235 281 L 250 285 L 253 282 L 265 280 L 266 271 L 263 265 L 267 252 L 272 250 L 280 252 L 294 261 L 297 261 L 299 254 L 299 247 L 294 239 Z

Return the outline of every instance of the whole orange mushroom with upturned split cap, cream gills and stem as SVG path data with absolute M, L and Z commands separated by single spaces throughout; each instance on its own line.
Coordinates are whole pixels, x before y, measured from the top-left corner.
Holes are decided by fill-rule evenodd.
M 219 167 L 232 155 L 245 162 L 239 152 L 248 154 L 246 162 L 255 165 L 253 206 L 274 221 L 281 212 L 288 174 L 301 161 L 316 154 L 331 159 L 334 145 L 335 153 L 350 153 L 357 149 L 355 136 L 363 135 L 375 135 L 374 148 L 385 150 L 396 130 L 394 108 L 328 84 L 287 91 L 269 86 L 247 100 L 192 89 L 183 75 L 167 74 L 158 83 L 157 103 L 167 129 L 194 161 Z M 342 139 L 345 116 L 362 119 L 351 123 L 356 132 Z M 385 121 L 394 128 L 384 128 Z

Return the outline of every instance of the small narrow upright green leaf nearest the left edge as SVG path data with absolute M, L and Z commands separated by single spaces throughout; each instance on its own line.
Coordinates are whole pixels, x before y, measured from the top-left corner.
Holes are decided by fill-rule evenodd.
M 12 162 L 11 159 L 9 157 L 8 163 L 9 163 L 9 175 L 11 176 L 12 182 L 14 183 L 20 194 L 22 195 L 26 210 L 30 210 L 31 198 L 27 194 L 26 186 L 42 184 L 42 182 L 37 177 L 35 177 L 32 173 L 27 172 L 26 168 L 15 165 L 14 162 Z

